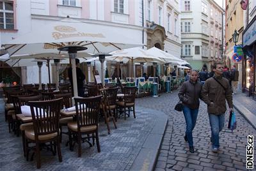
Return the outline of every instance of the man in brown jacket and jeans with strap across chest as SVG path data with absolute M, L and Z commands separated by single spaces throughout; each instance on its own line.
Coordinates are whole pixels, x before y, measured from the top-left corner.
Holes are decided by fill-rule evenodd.
M 212 152 L 220 148 L 219 133 L 225 122 L 226 100 L 230 112 L 233 111 L 232 90 L 227 78 L 223 78 L 223 65 L 215 63 L 212 66 L 214 76 L 207 79 L 202 88 L 202 100 L 207 104 L 207 112 L 211 124 Z

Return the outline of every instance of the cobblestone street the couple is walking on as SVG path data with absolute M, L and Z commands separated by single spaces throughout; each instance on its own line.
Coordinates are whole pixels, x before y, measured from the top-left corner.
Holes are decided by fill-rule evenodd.
M 140 98 L 140 107 L 161 110 L 168 115 L 168 126 L 163 137 L 156 170 L 246 170 L 247 135 L 256 135 L 256 130 L 236 110 L 237 129 L 232 133 L 225 128 L 220 133 L 220 152 L 211 152 L 211 128 L 207 106 L 201 101 L 198 119 L 193 130 L 195 153 L 190 153 L 184 142 L 185 120 L 182 112 L 174 110 L 178 102 L 177 91 L 163 93 L 158 98 Z

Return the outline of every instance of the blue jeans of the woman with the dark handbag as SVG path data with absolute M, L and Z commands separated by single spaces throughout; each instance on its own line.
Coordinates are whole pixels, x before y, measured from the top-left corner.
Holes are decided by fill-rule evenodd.
M 198 108 L 197 109 L 191 109 L 189 107 L 183 106 L 182 107 L 183 114 L 186 120 L 186 135 L 188 137 L 188 144 L 189 147 L 193 146 L 193 136 L 192 131 L 195 128 L 196 125 L 196 118 L 198 114 Z

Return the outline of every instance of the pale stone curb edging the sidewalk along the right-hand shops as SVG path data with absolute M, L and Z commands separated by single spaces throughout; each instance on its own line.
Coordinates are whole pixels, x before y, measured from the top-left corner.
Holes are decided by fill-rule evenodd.
M 241 105 L 239 101 L 233 99 L 233 105 L 236 110 L 243 115 L 243 117 L 250 123 L 254 129 L 256 129 L 256 115 L 248 110 L 244 105 Z

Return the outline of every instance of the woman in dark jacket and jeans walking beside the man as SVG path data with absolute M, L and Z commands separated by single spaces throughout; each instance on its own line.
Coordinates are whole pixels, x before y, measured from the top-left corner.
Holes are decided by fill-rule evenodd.
M 179 91 L 179 99 L 182 101 L 182 110 L 186 120 L 186 133 L 184 140 L 189 144 L 189 151 L 195 152 L 193 146 L 192 131 L 195 128 L 196 117 L 199 108 L 199 98 L 202 84 L 197 81 L 198 71 L 190 72 L 189 80 L 184 82 Z

